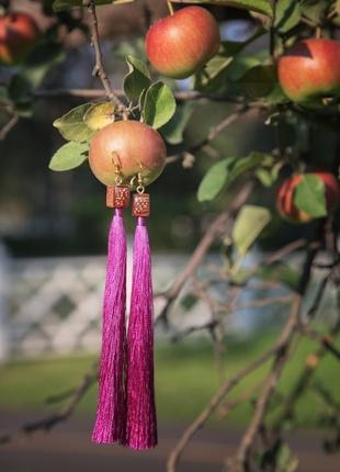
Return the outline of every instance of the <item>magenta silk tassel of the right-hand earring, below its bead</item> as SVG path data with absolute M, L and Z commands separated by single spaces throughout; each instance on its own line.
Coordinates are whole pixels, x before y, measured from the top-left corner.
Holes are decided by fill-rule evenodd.
M 157 445 L 154 386 L 154 297 L 151 257 L 144 217 L 138 217 L 134 241 L 132 302 L 126 358 L 125 446 L 149 449 Z

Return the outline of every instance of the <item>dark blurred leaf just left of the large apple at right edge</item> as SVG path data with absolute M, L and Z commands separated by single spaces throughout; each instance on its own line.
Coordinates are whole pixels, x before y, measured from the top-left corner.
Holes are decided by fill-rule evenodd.
M 247 70 L 239 83 L 251 98 L 268 95 L 276 85 L 276 71 L 274 66 L 256 66 Z

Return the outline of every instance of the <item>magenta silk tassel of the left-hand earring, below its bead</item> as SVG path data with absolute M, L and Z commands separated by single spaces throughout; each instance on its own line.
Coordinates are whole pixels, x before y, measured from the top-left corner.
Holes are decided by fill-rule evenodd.
M 114 210 L 109 235 L 99 401 L 92 440 L 124 442 L 126 236 L 123 210 Z

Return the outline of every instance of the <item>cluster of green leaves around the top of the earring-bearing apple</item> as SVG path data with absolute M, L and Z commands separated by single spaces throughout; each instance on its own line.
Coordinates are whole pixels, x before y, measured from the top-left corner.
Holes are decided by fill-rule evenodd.
M 128 55 L 126 63 L 128 72 L 124 78 L 124 93 L 129 102 L 129 113 L 155 130 L 160 128 L 168 142 L 181 141 L 181 130 L 190 117 L 188 110 L 179 109 L 175 114 L 177 104 L 170 87 L 159 80 L 152 82 L 144 61 Z M 93 134 L 113 123 L 118 113 L 115 105 L 105 100 L 81 104 L 57 119 L 54 126 L 69 143 L 53 156 L 49 168 L 63 171 L 80 166 L 87 159 Z

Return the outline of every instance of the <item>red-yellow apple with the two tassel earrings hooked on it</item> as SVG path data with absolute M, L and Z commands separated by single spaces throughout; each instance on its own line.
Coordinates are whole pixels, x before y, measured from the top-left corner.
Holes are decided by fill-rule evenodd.
M 90 143 L 89 164 L 105 186 L 114 183 L 116 166 L 125 183 L 140 172 L 147 186 L 163 170 L 166 156 L 165 142 L 157 131 L 138 121 L 120 121 L 95 133 Z

